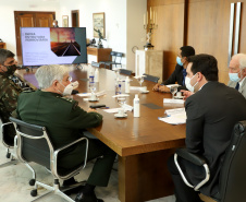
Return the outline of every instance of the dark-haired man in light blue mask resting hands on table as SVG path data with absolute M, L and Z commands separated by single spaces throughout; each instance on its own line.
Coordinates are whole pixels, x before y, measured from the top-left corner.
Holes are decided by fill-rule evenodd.
M 177 91 L 180 90 L 186 90 L 185 87 L 185 75 L 186 75 L 186 68 L 187 68 L 187 57 L 194 56 L 195 49 L 192 46 L 183 46 L 180 48 L 176 57 L 176 67 L 172 75 L 161 84 L 156 84 L 153 86 L 153 91 L 170 93 L 170 88 L 165 85 L 169 84 L 175 84 L 177 82 L 180 87 L 177 87 Z

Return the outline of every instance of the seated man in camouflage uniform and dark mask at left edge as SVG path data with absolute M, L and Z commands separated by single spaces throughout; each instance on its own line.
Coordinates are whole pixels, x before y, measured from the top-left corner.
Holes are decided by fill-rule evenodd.
M 9 122 L 11 112 L 16 109 L 17 97 L 22 88 L 12 81 L 17 61 L 10 50 L 0 49 L 0 117 L 2 122 Z M 8 127 L 8 136 L 14 139 L 13 126 Z M 10 141 L 11 141 L 10 140 Z

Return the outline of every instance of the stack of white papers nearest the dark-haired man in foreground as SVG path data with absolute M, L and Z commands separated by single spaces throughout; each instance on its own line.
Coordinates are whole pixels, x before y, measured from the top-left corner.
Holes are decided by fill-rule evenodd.
M 167 117 L 159 117 L 158 119 L 170 124 L 183 124 L 186 122 L 185 108 L 176 108 L 165 110 Z

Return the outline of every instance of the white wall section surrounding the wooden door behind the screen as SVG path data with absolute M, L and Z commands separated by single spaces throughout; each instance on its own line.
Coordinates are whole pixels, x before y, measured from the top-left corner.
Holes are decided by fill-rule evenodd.
M 0 0 L 0 38 L 7 49 L 16 54 L 14 11 L 54 11 L 59 15 L 59 0 Z

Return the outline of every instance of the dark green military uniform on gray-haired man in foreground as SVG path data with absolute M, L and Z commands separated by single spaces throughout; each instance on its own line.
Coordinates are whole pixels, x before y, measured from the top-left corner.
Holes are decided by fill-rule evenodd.
M 81 129 L 97 127 L 102 121 L 100 114 L 83 110 L 76 100 L 39 90 L 20 95 L 16 114 L 28 123 L 46 127 L 54 148 L 79 139 Z M 84 143 L 62 152 L 59 167 L 66 169 L 79 165 L 84 153 Z

